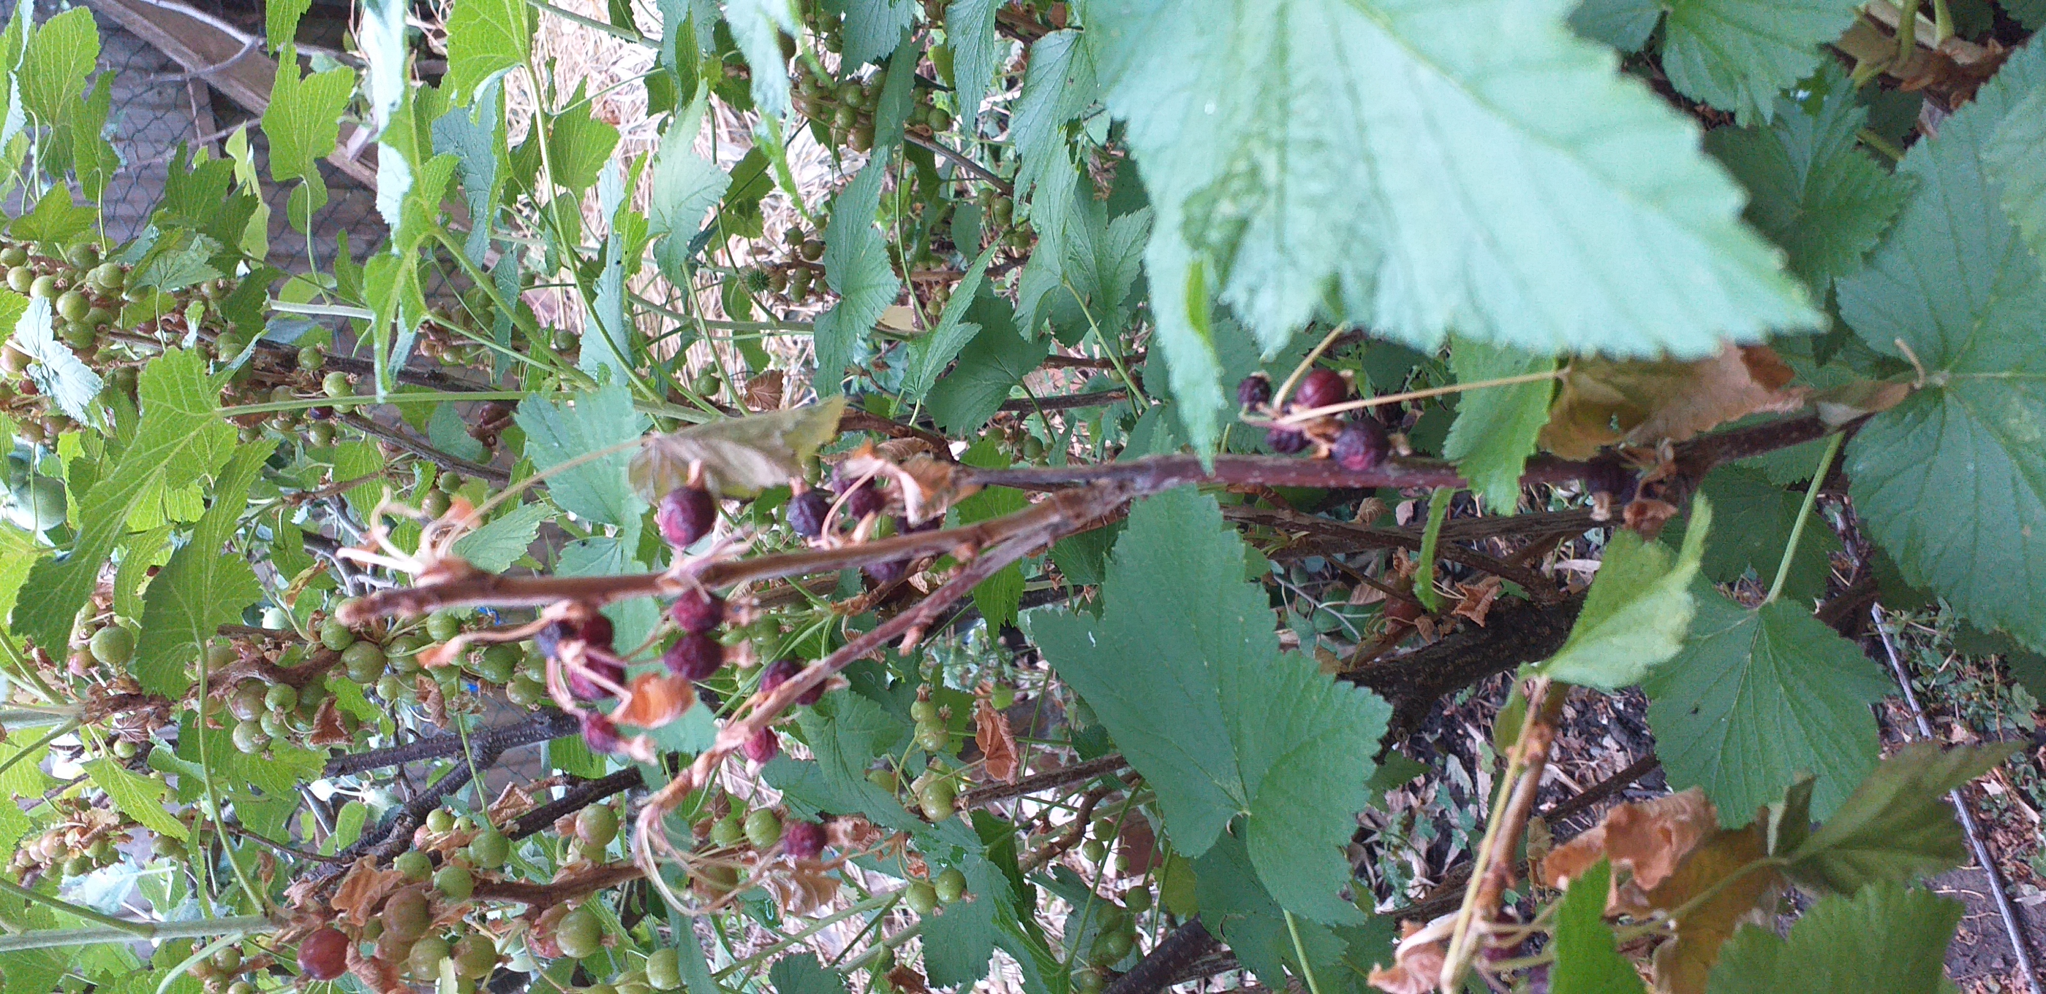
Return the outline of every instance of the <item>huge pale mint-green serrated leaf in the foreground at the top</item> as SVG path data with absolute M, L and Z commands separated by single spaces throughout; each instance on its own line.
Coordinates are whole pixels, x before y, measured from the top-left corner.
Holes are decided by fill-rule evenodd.
M 1680 358 L 1819 325 L 1696 127 L 1571 35 L 1571 6 L 1093 4 L 1086 39 L 1158 211 L 1158 346 L 1197 444 L 1221 409 L 1209 290 L 1269 352 L 1324 309 L 1430 348 L 1455 327 Z

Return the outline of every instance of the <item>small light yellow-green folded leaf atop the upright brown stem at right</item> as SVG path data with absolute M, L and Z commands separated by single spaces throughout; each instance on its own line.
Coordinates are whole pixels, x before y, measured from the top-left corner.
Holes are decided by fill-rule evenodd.
M 1614 534 L 1569 640 L 1534 669 L 1604 691 L 1641 683 L 1657 663 L 1684 648 L 1694 609 L 1690 579 L 1698 575 L 1710 528 L 1713 503 L 1698 499 L 1674 560 L 1661 544 L 1643 542 L 1629 530 Z

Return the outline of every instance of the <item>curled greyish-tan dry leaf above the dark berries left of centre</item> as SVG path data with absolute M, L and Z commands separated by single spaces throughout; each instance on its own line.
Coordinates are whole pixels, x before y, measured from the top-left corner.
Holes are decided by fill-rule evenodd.
M 632 456 L 632 487 L 647 501 L 690 483 L 702 464 L 704 487 L 724 497 L 753 497 L 802 475 L 802 462 L 839 436 L 845 397 L 790 411 L 767 411 L 647 436 Z

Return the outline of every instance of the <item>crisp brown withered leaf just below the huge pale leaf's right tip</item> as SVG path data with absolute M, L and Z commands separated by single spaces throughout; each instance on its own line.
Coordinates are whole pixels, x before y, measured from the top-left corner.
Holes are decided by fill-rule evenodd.
M 1713 358 L 1676 362 L 1573 360 L 1563 372 L 1541 446 L 1590 458 L 1612 442 L 1682 442 L 1758 411 L 1796 411 L 1805 391 L 1768 346 L 1727 346 Z

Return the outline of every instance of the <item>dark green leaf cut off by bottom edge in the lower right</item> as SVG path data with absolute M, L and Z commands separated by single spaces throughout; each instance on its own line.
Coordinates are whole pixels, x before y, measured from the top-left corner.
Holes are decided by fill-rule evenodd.
M 1958 900 L 1897 884 L 1825 898 L 1788 937 L 1745 924 L 1727 939 L 1708 994 L 1925 994 L 1952 990 L 1946 945 Z

